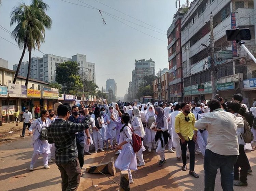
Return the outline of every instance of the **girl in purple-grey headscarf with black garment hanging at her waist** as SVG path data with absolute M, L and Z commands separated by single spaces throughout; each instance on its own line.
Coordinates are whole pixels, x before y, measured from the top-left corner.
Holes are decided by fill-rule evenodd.
M 155 141 L 157 142 L 156 152 L 160 155 L 160 161 L 158 166 L 162 166 L 165 160 L 165 145 L 168 143 L 169 134 L 168 134 L 168 119 L 165 116 L 165 111 L 161 107 L 155 108 L 156 113 L 156 127 L 153 128 L 153 131 L 156 132 Z

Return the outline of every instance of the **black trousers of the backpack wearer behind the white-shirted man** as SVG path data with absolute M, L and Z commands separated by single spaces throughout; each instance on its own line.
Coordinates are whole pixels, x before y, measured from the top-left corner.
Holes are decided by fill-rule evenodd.
M 244 151 L 244 145 L 239 145 L 239 155 L 237 157 L 237 162 L 234 165 L 234 179 L 239 180 L 239 167 L 241 167 L 240 170 L 240 180 L 243 183 L 247 183 L 247 171 L 250 168 L 248 166 L 248 163 L 246 162 L 248 160 L 245 151 Z

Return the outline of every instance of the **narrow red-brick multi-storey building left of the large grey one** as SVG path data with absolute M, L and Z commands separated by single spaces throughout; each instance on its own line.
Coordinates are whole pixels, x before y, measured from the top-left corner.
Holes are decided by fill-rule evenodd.
M 181 20 L 185 8 L 179 8 L 167 31 L 168 63 L 169 63 L 169 98 L 170 101 L 181 101 L 183 98 L 182 52 L 181 52 Z

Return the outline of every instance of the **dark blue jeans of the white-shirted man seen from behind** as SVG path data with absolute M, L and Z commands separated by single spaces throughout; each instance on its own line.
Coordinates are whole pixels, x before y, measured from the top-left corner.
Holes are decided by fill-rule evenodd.
M 217 169 L 221 171 L 221 186 L 224 191 L 233 191 L 234 164 L 237 162 L 236 155 L 219 155 L 209 149 L 204 155 L 204 191 L 214 191 Z

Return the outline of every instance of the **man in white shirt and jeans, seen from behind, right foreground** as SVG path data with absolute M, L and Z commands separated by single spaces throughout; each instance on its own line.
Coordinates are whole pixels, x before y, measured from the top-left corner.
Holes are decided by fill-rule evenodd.
M 233 190 L 234 164 L 239 155 L 237 127 L 242 128 L 242 120 L 221 108 L 214 99 L 208 102 L 210 113 L 195 122 L 195 128 L 208 131 L 208 144 L 204 156 L 204 190 L 214 191 L 217 169 L 221 172 L 223 190 Z

